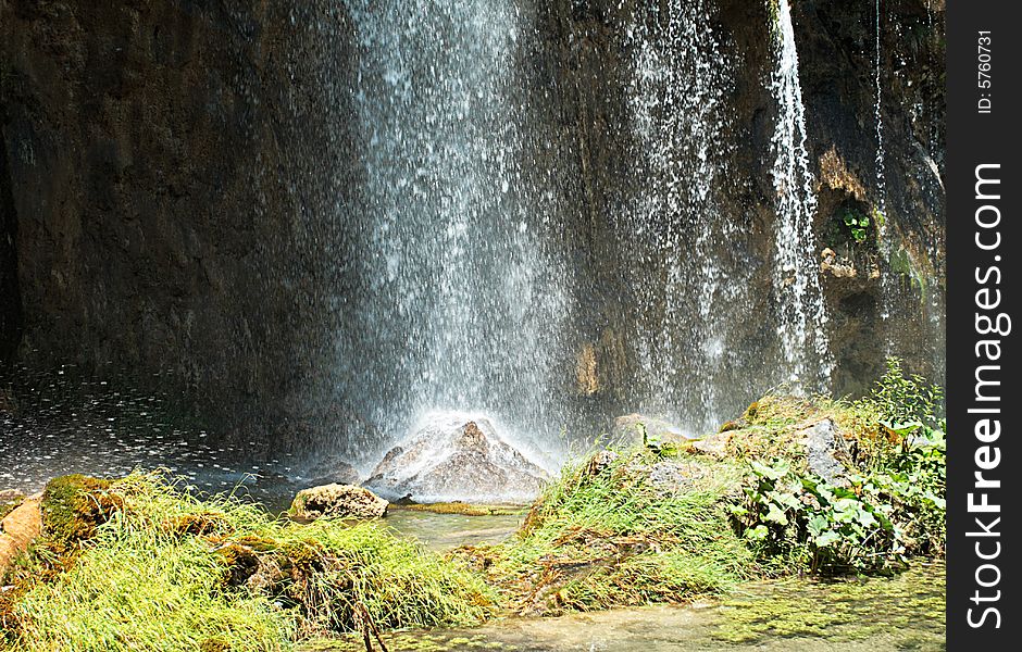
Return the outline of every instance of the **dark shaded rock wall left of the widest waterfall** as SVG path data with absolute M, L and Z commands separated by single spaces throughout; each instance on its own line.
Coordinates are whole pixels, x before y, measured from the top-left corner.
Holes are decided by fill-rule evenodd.
M 351 187 L 316 75 L 350 39 L 335 3 L 286 4 L 0 4 L 0 359 L 135 376 L 242 436 L 316 419 L 344 251 L 306 211 Z

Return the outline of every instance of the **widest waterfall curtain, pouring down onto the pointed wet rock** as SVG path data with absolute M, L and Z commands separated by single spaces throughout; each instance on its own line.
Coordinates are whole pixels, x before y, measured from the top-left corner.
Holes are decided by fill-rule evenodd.
M 562 426 L 552 193 L 523 167 L 513 2 L 348 0 L 362 200 L 338 396 L 394 440 L 428 411 Z M 354 210 L 352 210 L 352 208 Z M 385 442 L 341 452 L 370 460 Z M 526 437 L 527 438 L 527 437 Z

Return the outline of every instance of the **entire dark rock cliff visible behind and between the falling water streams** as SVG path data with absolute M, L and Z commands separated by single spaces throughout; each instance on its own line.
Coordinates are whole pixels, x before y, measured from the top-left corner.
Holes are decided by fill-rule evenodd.
M 345 312 L 331 298 L 359 283 L 342 218 L 359 201 L 347 145 L 357 47 L 335 3 L 284 4 L 0 0 L 0 360 L 116 369 L 291 443 L 367 427 L 337 408 L 324 363 Z M 532 110 L 553 143 L 536 163 L 561 166 L 577 321 L 598 342 L 603 399 L 624 403 L 634 351 L 614 334 L 634 315 L 603 261 L 623 255 L 610 223 L 636 185 L 635 143 L 614 126 L 630 47 L 615 15 L 633 3 L 521 4 L 534 28 L 523 85 L 548 98 Z M 771 15 L 762 2 L 711 4 L 736 71 L 721 201 L 748 234 L 720 255 L 753 269 L 748 313 L 765 314 Z M 838 392 L 861 389 L 887 352 L 943 374 L 944 7 L 884 3 L 883 198 L 875 20 L 872 2 L 794 3 L 815 247 L 834 253 L 823 284 Z M 878 205 L 887 252 L 844 222 Z M 750 323 L 731 344 L 769 335 Z

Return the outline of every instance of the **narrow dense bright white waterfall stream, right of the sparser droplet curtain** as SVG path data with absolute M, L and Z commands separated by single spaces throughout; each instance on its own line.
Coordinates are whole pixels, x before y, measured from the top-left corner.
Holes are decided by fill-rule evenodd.
M 772 139 L 777 195 L 774 229 L 777 331 L 786 379 L 796 388 L 819 390 L 827 386 L 833 363 L 812 230 L 817 199 L 806 150 L 806 109 L 788 0 L 777 0 L 772 8 L 776 10 L 776 67 L 770 88 L 777 102 L 777 125 Z

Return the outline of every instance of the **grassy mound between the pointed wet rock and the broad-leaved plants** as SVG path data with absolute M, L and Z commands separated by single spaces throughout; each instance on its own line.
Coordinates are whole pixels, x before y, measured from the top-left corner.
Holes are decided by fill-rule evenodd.
M 570 466 L 515 538 L 459 554 L 485 570 L 506 606 L 523 614 L 678 603 L 752 576 L 752 556 L 723 504 L 738 471 L 700 467 L 693 487 L 663 494 L 643 469 L 659 461 L 633 449 L 598 473 L 585 463 Z

